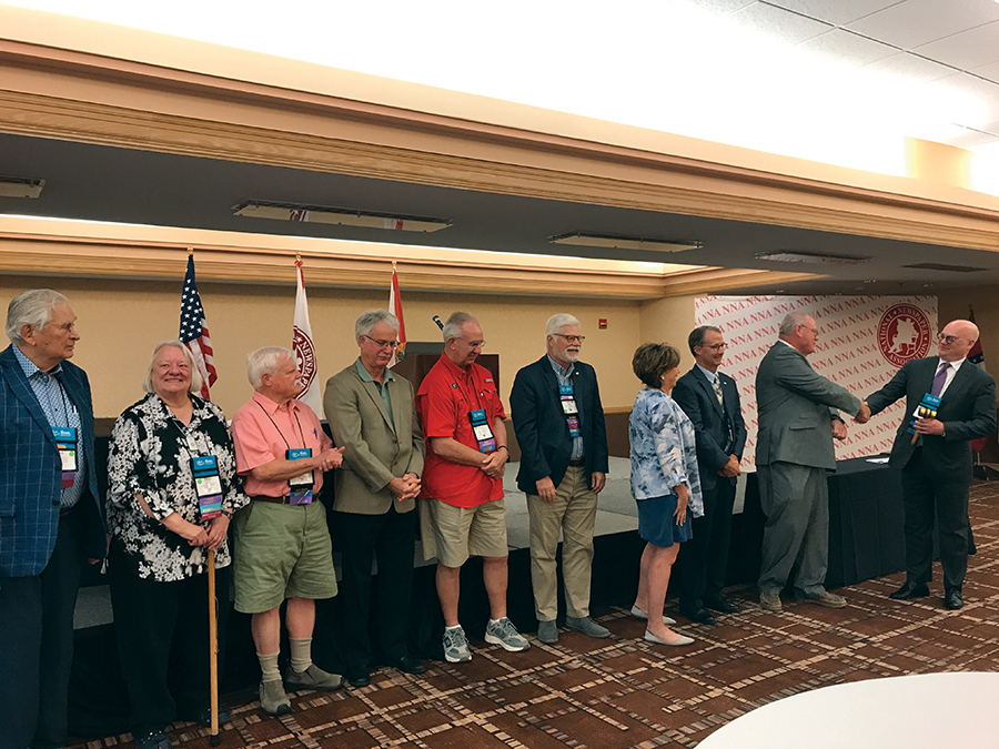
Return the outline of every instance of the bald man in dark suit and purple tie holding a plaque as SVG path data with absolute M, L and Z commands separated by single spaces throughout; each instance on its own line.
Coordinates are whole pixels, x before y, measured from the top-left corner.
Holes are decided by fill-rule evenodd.
M 891 594 L 896 600 L 929 595 L 936 516 L 944 605 L 951 610 L 965 605 L 961 587 L 968 568 L 971 441 L 996 432 L 996 382 L 985 370 L 968 362 L 968 352 L 976 341 L 978 327 L 973 323 L 948 323 L 937 336 L 939 356 L 906 362 L 887 385 L 867 399 L 870 412 L 877 414 L 906 398 L 906 414 L 890 458 L 890 464 L 901 469 L 906 514 L 906 583 Z M 939 396 L 937 415 L 914 423 L 926 393 Z M 909 432 L 910 424 L 914 432 Z

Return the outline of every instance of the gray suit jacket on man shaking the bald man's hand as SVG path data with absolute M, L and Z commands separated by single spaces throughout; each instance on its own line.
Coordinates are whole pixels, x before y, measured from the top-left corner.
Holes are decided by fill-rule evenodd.
M 778 341 L 756 373 L 759 433 L 756 464 L 794 463 L 836 468 L 830 422 L 842 408 L 851 416 L 860 401 L 816 373 L 796 348 Z

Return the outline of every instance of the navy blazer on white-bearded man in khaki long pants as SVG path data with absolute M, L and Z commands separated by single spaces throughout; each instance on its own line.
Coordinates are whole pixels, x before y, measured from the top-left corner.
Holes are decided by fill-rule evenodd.
M 607 427 L 592 366 L 576 362 L 573 391 L 579 409 L 586 474 L 607 473 Z M 535 482 L 545 476 L 558 486 L 568 468 L 573 442 L 562 411 L 558 378 L 547 354 L 517 372 L 509 392 L 509 411 L 521 447 L 517 488 L 537 494 Z

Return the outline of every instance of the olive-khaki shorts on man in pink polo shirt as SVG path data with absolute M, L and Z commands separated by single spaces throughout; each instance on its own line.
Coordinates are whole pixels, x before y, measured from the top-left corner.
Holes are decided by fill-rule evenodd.
M 326 508 L 252 500 L 232 520 L 235 610 L 260 614 L 285 598 L 336 595 Z

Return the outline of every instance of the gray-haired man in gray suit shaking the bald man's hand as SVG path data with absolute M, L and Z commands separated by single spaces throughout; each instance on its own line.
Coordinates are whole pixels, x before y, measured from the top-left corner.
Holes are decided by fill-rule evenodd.
M 837 409 L 856 414 L 861 424 L 870 418 L 870 411 L 808 364 L 805 357 L 815 352 L 818 341 L 811 315 L 789 313 L 779 335 L 756 374 L 756 470 L 767 516 L 759 604 L 768 611 L 781 610 L 780 591 L 797 568 L 799 598 L 842 608 L 846 599 L 823 585 L 829 555 L 826 470 L 836 468 L 833 437 L 846 438 L 846 424 Z

